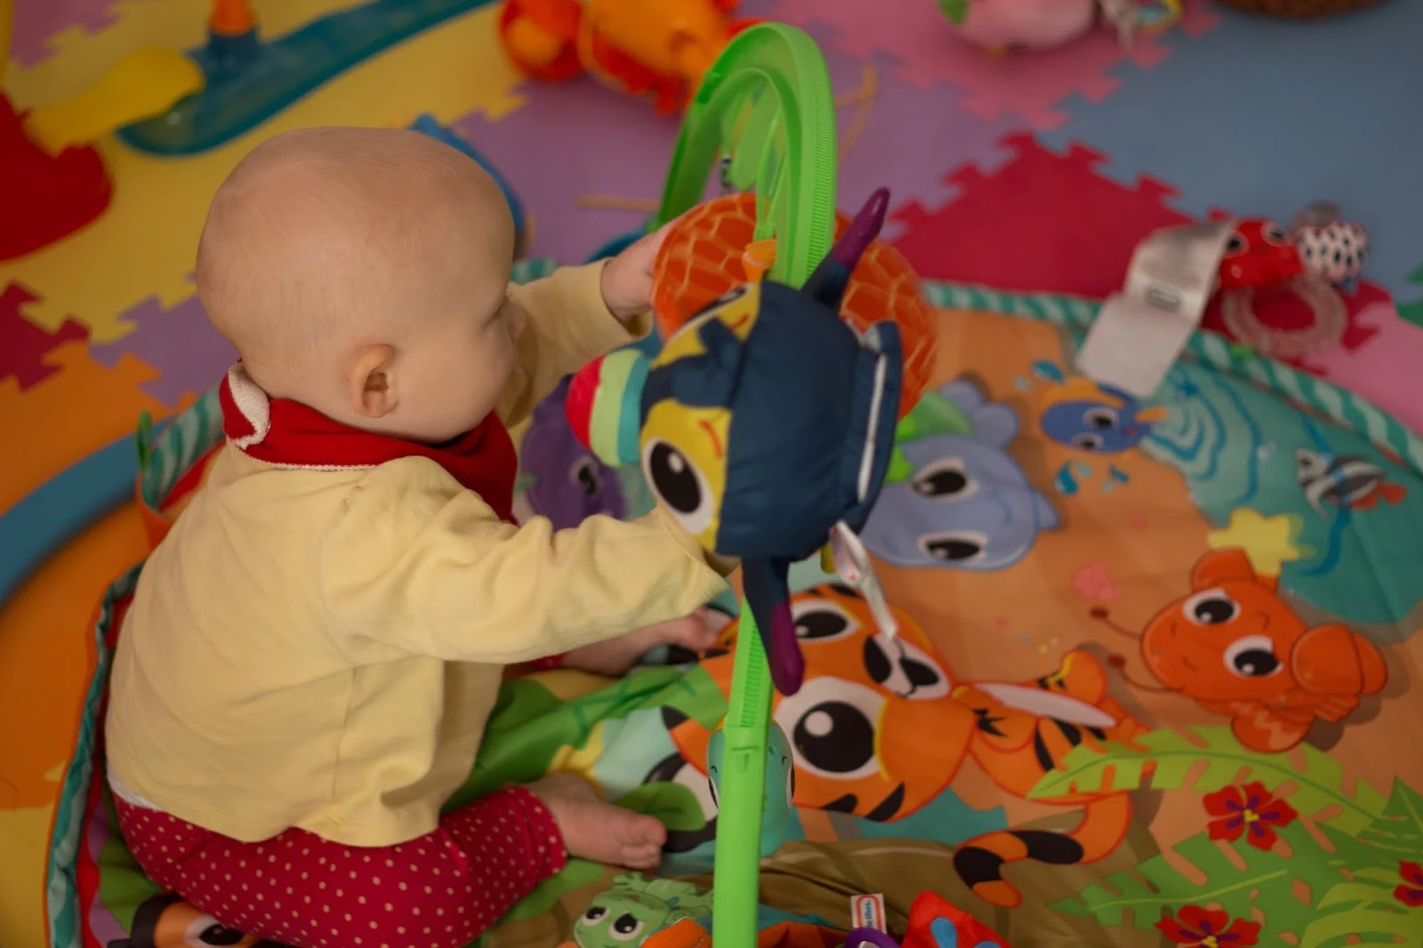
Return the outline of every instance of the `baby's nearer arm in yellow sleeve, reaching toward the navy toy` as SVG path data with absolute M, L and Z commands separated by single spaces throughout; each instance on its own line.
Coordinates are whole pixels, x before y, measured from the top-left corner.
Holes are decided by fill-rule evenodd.
M 413 652 L 501 665 L 684 616 L 727 588 L 660 510 L 564 531 L 544 518 L 512 527 L 424 458 L 357 484 L 323 539 L 322 585 L 353 660 Z

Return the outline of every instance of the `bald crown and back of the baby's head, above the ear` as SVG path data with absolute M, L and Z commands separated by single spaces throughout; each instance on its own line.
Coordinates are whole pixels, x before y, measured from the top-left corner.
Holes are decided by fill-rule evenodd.
M 270 394 L 329 414 L 371 346 L 504 300 L 514 228 L 478 164 L 427 135 L 310 128 L 255 148 L 218 189 L 196 282 L 213 326 Z

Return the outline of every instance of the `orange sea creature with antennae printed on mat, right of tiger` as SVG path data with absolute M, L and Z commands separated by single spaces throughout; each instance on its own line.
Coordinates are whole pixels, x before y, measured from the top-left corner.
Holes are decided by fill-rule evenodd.
M 1106 609 L 1093 615 L 1110 625 Z M 1148 690 L 1228 715 L 1235 737 L 1265 753 L 1289 750 L 1316 719 L 1343 720 L 1389 678 L 1373 642 L 1339 622 L 1308 626 L 1244 549 L 1201 557 L 1191 594 L 1161 609 L 1140 641 L 1143 660 L 1165 686 Z

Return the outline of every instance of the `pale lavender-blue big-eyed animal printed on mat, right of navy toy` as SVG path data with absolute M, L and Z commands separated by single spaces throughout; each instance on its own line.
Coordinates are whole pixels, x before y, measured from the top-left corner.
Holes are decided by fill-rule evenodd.
M 1007 453 L 1017 414 L 959 379 L 901 421 L 885 487 L 861 532 L 895 567 L 1003 569 L 1062 521 Z

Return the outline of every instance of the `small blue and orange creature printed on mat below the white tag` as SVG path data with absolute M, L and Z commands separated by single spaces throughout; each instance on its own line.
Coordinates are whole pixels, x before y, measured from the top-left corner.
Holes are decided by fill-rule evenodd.
M 1133 396 L 1073 376 L 1053 384 L 1044 394 L 1039 424 L 1059 444 L 1093 454 L 1121 454 L 1151 434 L 1164 421 L 1167 409 L 1144 406 Z

